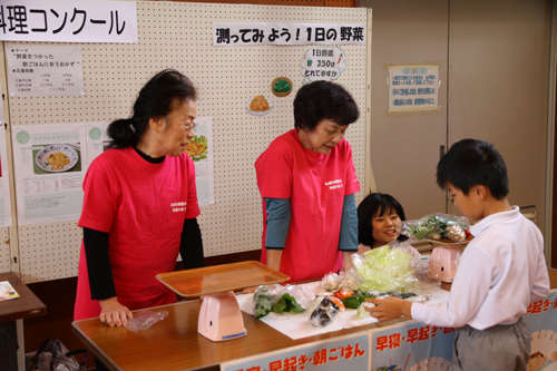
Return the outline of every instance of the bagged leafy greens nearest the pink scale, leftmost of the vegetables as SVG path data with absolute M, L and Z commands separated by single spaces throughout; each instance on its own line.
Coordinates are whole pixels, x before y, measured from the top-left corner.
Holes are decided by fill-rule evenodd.
M 258 320 L 271 312 L 301 313 L 307 307 L 312 297 L 301 286 L 296 285 L 262 285 L 253 294 L 254 315 Z

